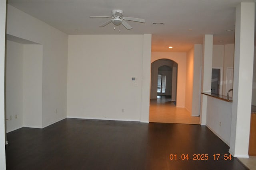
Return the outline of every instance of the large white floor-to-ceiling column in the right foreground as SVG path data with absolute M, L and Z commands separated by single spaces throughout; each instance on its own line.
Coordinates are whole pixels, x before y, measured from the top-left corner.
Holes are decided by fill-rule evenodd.
M 234 85 L 229 152 L 248 157 L 254 58 L 254 2 L 236 7 Z

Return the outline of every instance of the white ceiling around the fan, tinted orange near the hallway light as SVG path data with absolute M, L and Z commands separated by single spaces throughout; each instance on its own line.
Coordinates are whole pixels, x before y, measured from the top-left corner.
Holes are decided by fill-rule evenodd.
M 193 44 L 202 44 L 204 34 L 214 35 L 214 44 L 234 43 L 234 0 L 8 0 L 8 4 L 72 34 L 152 33 L 152 51 L 186 52 Z M 124 16 L 143 18 L 146 23 L 127 21 L 133 28 L 113 23 L 99 27 L 113 9 Z M 164 22 L 164 25 L 152 25 Z M 173 46 L 173 49 L 168 49 Z

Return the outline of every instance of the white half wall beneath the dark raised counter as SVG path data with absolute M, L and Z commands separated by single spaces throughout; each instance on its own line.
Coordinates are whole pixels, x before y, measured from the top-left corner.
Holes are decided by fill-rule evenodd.
M 206 126 L 230 145 L 232 103 L 207 96 Z

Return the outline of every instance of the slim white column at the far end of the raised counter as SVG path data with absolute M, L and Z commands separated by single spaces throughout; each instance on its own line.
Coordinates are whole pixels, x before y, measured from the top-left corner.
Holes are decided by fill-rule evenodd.
M 202 57 L 202 92 L 211 92 L 213 35 L 204 35 Z M 201 95 L 200 124 L 206 125 L 207 96 Z

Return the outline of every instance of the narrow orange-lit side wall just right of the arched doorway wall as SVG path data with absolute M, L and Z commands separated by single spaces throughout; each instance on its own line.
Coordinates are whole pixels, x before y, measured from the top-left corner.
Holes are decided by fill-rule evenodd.
M 194 78 L 194 48 L 187 52 L 186 58 L 186 98 L 185 108 L 192 113 L 193 100 L 193 78 Z

